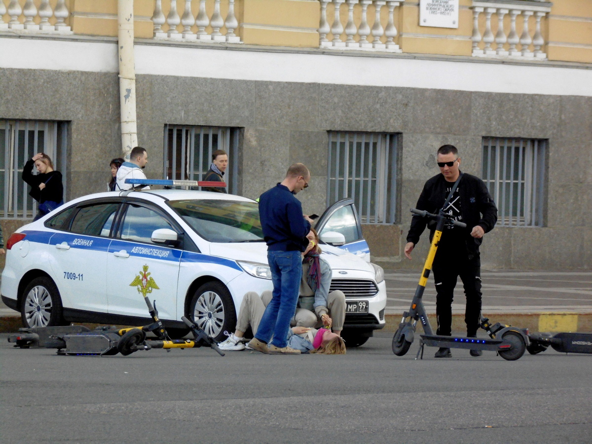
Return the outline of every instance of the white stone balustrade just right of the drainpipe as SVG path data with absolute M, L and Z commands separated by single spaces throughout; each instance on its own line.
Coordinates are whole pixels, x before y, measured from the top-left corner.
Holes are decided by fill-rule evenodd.
M 197 15 L 194 15 L 194 7 Z M 166 15 L 163 8 L 168 9 Z M 184 0 L 182 16 L 177 11 L 176 0 L 155 0 L 152 23 L 157 39 L 242 43 L 235 34 L 239 27 L 235 0 Z M 181 32 L 179 25 L 182 25 Z M 226 28 L 224 33 L 223 28 Z

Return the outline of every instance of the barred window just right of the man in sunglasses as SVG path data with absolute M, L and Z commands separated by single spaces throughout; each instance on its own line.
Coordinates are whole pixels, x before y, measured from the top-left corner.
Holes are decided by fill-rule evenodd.
M 482 178 L 497 205 L 497 224 L 542 227 L 547 140 L 484 137 Z

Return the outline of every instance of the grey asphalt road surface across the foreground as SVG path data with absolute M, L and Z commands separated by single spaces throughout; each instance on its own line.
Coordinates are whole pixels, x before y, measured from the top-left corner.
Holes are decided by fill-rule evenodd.
M 15 349 L 0 334 L 0 442 L 590 443 L 592 355 L 504 361 L 380 332 L 345 356 L 209 348 L 130 356 Z

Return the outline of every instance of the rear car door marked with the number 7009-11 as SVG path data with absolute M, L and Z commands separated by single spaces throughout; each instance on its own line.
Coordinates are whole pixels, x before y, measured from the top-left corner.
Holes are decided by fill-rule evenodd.
M 119 208 L 117 201 L 81 205 L 67 230 L 50 239 L 49 259 L 65 308 L 107 313 L 107 250 Z

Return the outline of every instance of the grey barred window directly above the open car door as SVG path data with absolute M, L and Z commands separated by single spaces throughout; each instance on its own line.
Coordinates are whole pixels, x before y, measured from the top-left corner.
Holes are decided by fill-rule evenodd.
M 327 206 L 350 197 L 363 223 L 397 217 L 397 135 L 329 132 Z

